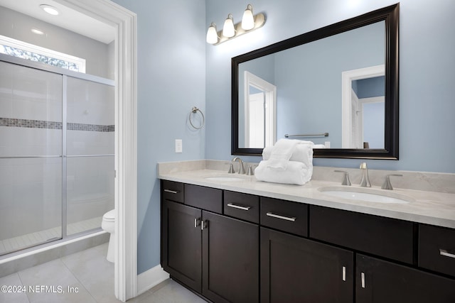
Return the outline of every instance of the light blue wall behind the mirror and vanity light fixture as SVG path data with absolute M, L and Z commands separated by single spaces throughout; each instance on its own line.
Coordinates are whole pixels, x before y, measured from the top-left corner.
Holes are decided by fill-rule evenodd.
M 395 4 L 392 0 L 256 0 L 267 21 L 235 40 L 206 45 L 205 158 L 231 159 L 230 59 L 242 53 Z M 206 27 L 240 21 L 247 1 L 207 0 Z M 455 172 L 455 1 L 400 1 L 400 160 L 368 160 L 385 170 Z M 243 157 L 259 162 L 259 157 Z M 362 160 L 314 159 L 314 165 L 358 167 Z

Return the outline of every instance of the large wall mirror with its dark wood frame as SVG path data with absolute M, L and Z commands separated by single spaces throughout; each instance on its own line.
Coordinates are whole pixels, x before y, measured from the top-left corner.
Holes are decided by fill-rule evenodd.
M 397 160 L 399 9 L 232 57 L 232 155 L 298 138 L 315 158 Z

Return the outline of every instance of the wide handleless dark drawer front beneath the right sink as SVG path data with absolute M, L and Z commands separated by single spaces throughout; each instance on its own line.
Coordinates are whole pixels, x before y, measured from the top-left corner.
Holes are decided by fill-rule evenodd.
M 412 264 L 414 224 L 409 221 L 310 206 L 311 238 Z

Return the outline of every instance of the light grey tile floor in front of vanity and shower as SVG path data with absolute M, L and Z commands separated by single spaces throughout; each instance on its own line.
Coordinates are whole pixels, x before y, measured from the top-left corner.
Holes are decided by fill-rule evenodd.
M 120 302 L 114 297 L 114 265 L 107 262 L 106 253 L 107 243 L 1 277 L 0 287 L 23 290 L 25 286 L 26 292 L 4 292 L 1 288 L 0 303 Z M 128 302 L 205 301 L 173 280 L 166 280 Z

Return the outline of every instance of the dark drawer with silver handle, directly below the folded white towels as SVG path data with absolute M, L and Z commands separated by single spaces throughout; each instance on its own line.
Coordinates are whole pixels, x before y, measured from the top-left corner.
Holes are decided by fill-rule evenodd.
M 261 197 L 261 225 L 308 236 L 308 205 Z

